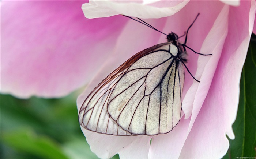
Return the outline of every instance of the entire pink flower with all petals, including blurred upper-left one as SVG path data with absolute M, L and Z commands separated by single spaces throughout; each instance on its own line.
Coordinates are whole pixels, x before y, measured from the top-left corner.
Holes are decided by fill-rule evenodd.
M 255 1 L 225 3 L 144 0 L 140 4 L 90 1 L 91 5 L 83 5 L 87 17 L 120 13 L 165 17 L 147 22 L 178 35 L 200 13 L 189 31 L 187 45 L 200 53 L 214 54 L 204 57 L 188 53 L 187 66 L 201 82 L 195 82 L 185 71 L 184 115 L 174 130 L 156 136 L 111 136 L 82 128 L 95 154 L 101 158 L 116 153 L 120 158 L 221 158 L 226 154 L 229 142 L 225 134 L 234 138 L 231 126 L 255 24 Z M 163 35 L 120 15 L 86 19 L 81 1 L 1 1 L 0 5 L 1 93 L 20 98 L 64 96 L 96 75 L 78 98 L 79 110 L 90 91 L 125 60 L 165 42 Z

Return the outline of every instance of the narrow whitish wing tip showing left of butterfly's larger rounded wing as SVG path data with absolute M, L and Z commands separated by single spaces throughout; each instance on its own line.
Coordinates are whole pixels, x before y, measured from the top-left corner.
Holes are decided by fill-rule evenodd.
M 101 82 L 86 98 L 79 111 L 79 123 L 82 127 L 101 134 L 131 135 L 119 127 L 107 112 L 106 101 L 121 75 L 122 72 L 110 79 L 108 76 L 105 79 L 107 82 Z

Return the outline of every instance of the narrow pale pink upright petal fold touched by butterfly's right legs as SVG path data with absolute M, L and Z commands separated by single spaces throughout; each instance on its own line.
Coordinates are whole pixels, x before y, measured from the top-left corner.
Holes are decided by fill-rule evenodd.
M 188 94 L 195 92 L 195 98 L 191 101 L 191 106 L 187 108 L 189 111 L 187 112 L 186 105 L 183 109 L 186 118 L 192 114 L 188 132 L 192 128 L 193 122 L 203 105 L 204 99 L 210 89 L 218 61 L 221 57 L 221 51 L 228 31 L 228 12 L 229 7 L 224 5 L 202 45 L 200 52 L 211 52 L 213 56 L 199 56 L 196 77 L 200 77 L 200 83 L 194 82 L 187 92 Z

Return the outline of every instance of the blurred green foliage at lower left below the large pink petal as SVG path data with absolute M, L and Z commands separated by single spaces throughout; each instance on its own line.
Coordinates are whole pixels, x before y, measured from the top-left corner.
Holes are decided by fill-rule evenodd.
M 78 95 L 74 92 L 59 99 L 25 100 L 0 95 L 0 157 L 97 159 L 80 130 Z

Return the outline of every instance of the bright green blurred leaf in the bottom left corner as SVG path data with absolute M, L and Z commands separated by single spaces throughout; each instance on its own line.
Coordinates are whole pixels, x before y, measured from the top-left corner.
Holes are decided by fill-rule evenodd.
M 16 150 L 33 154 L 38 158 L 68 159 L 57 143 L 46 136 L 35 134 L 29 128 L 2 133 L 1 140 Z

